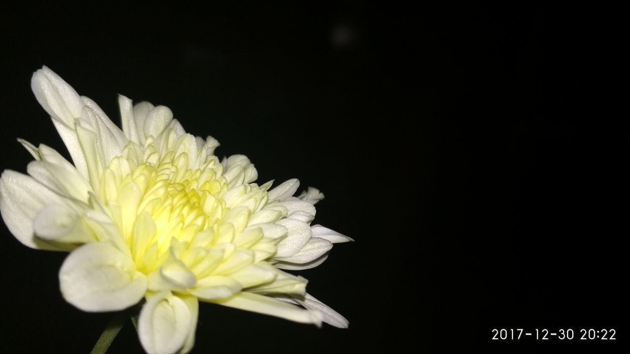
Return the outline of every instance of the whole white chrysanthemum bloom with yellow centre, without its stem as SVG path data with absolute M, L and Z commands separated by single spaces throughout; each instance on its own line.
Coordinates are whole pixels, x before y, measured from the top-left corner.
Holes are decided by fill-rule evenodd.
M 31 248 L 69 251 L 62 295 L 84 311 L 118 311 L 142 299 L 148 353 L 186 353 L 198 301 L 347 327 L 306 294 L 312 268 L 350 237 L 311 222 L 323 195 L 293 197 L 299 181 L 253 183 L 249 159 L 219 161 L 219 142 L 186 134 L 164 106 L 119 96 L 122 130 L 47 67 L 31 88 L 72 157 L 18 139 L 35 157 L 26 174 L 4 171 L 0 212 Z M 299 304 L 299 307 L 294 304 Z

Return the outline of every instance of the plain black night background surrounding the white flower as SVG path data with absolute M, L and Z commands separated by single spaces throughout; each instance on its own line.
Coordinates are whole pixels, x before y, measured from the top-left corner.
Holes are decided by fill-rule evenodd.
M 166 105 L 217 138 L 219 156 L 250 157 L 259 181 L 317 186 L 316 222 L 357 241 L 301 273 L 349 329 L 200 304 L 193 353 L 627 341 L 621 11 L 341 1 L 0 13 L 0 168 L 25 171 L 17 137 L 64 151 L 30 92 L 46 65 L 115 122 L 117 93 Z M 0 232 L 1 351 L 89 351 L 110 314 L 62 299 L 64 254 Z M 492 341 L 493 328 L 576 338 Z M 615 328 L 617 341 L 580 341 L 580 328 Z M 125 326 L 112 352 L 140 350 Z

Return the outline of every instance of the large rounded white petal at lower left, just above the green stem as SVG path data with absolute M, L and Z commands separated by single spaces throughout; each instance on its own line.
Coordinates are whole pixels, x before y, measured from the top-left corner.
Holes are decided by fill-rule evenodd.
M 89 243 L 66 258 L 59 271 L 61 293 L 83 311 L 118 311 L 136 304 L 147 289 L 128 254 L 111 244 Z

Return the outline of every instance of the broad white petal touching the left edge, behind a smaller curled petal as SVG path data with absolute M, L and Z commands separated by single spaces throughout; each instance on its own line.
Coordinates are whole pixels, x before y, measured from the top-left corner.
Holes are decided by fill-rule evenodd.
M 3 172 L 0 178 L 0 212 L 13 236 L 30 248 L 69 251 L 74 247 L 33 237 L 35 216 L 52 203 L 67 204 L 69 201 L 30 176 L 11 170 Z

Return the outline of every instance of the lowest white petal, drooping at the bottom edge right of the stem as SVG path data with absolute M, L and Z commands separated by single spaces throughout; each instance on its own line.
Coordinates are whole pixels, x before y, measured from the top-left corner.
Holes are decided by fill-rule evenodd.
M 154 295 L 140 311 L 138 335 L 142 348 L 149 354 L 176 353 L 190 338 L 192 319 L 184 300 L 171 292 Z

